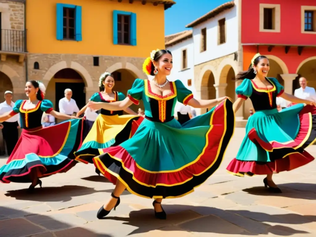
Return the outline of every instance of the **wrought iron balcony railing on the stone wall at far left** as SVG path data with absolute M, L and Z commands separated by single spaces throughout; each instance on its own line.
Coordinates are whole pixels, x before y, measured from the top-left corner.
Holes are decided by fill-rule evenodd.
M 26 31 L 1 29 L 0 50 L 6 52 L 26 52 Z

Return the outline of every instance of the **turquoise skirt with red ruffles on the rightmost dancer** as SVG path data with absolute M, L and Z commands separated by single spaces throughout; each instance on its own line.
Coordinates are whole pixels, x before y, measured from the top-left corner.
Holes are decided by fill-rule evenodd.
M 249 117 L 246 137 L 227 167 L 237 176 L 289 171 L 314 160 L 304 149 L 316 140 L 314 106 L 292 105 L 257 111 Z

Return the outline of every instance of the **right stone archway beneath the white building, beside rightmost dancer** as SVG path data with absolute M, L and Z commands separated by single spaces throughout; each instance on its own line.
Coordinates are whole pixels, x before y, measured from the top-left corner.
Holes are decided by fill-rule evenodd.
M 235 71 L 233 67 L 231 65 L 225 65 L 220 73 L 221 73 L 220 79 L 219 79 L 220 85 L 227 84 L 227 86 L 224 93 L 223 94 L 221 93 L 219 97 L 228 96 L 232 98 L 232 100 L 234 100 L 235 99 Z

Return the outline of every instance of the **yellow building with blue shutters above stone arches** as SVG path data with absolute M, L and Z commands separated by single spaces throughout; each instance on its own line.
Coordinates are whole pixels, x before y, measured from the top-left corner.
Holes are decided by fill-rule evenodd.
M 58 110 L 64 89 L 83 107 L 104 71 L 126 94 L 142 64 L 164 48 L 164 11 L 171 0 L 0 0 L 0 102 L 6 90 L 25 99 L 27 80 L 46 86 Z M 140 105 L 142 106 L 142 105 Z M 137 106 L 131 107 L 137 110 Z M 2 139 L 0 133 L 0 147 Z

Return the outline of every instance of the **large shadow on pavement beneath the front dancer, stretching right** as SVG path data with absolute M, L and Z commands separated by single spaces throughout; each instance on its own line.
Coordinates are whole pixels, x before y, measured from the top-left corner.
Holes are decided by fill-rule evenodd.
M 119 207 L 118 207 L 119 208 Z M 129 217 L 105 217 L 106 220 L 123 221 L 125 225 L 137 227 L 129 235 L 146 233 L 155 229 L 168 231 L 167 226 L 177 226 L 183 231 L 230 235 L 275 234 L 290 236 L 309 234 L 283 225 L 270 225 L 263 222 L 281 224 L 311 223 L 316 216 L 298 214 L 268 215 L 248 210 L 221 210 L 206 206 L 163 205 L 167 220 L 155 219 L 153 209 L 131 211 Z M 115 213 L 115 212 L 114 212 Z

